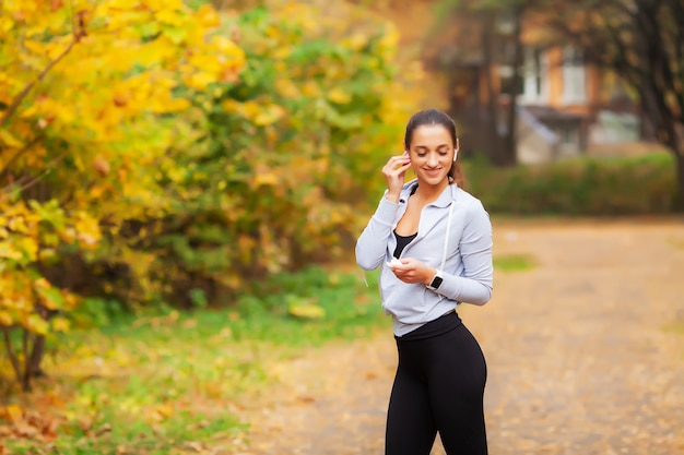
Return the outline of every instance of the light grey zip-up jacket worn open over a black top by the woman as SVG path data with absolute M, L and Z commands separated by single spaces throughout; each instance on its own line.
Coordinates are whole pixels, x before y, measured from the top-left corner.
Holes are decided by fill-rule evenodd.
M 385 195 L 356 241 L 356 263 L 366 271 L 381 266 L 382 309 L 393 319 L 397 336 L 433 321 L 461 302 L 485 304 L 492 297 L 492 224 L 480 200 L 449 184 L 437 200 L 423 208 L 417 236 L 404 248 L 401 258 L 414 258 L 440 270 L 446 247 L 444 280 L 439 288 L 406 284 L 387 266 L 397 247 L 394 228 L 406 211 L 411 189 L 417 180 L 405 183 L 399 203 Z M 449 209 L 453 204 L 450 228 Z

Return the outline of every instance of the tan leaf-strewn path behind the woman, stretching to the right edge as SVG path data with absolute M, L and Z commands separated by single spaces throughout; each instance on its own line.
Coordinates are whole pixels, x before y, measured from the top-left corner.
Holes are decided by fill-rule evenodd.
M 497 221 L 506 254 L 538 266 L 460 310 L 487 359 L 490 453 L 684 454 L 684 219 Z M 388 325 L 273 366 L 236 454 L 381 454 L 396 356 Z

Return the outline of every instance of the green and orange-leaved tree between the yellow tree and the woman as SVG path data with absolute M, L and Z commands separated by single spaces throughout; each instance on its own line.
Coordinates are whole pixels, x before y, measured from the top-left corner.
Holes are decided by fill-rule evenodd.
M 175 268 L 165 290 L 185 304 L 340 256 L 359 204 L 377 194 L 373 177 L 412 99 L 396 96 L 397 31 L 357 8 L 256 8 L 225 22 L 246 68 L 192 99 L 194 144 L 172 147 L 160 167 L 179 203 L 144 234 L 150 266 Z

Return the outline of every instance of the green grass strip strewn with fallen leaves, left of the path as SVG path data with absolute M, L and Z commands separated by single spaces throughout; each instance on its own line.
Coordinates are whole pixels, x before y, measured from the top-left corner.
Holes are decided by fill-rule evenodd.
M 377 273 L 366 275 L 367 287 L 361 272 L 314 267 L 246 284 L 250 296 L 229 309 L 125 316 L 62 336 L 44 361 L 50 378 L 3 400 L 24 412 L 12 423 L 9 408 L 3 421 L 0 407 L 3 443 L 12 454 L 60 455 L 229 446 L 246 428 L 232 409 L 273 383 L 270 362 L 389 326 Z M 325 315 L 293 318 L 288 306 L 298 301 Z M 46 430 L 51 423 L 58 424 L 55 434 Z

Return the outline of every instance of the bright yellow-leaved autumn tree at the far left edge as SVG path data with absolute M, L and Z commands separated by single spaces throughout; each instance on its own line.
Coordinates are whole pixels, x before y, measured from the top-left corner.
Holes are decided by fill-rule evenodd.
M 211 34 L 211 8 L 180 1 L 7 0 L 0 11 L 0 326 L 27 390 L 45 336 L 68 328 L 61 316 L 80 300 L 64 258 L 125 248 L 113 239 L 126 219 L 168 205 L 150 176 L 174 141 L 163 115 L 188 108 L 181 87 L 235 80 L 244 55 Z

